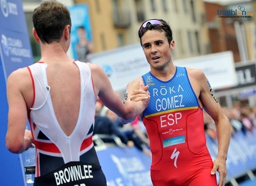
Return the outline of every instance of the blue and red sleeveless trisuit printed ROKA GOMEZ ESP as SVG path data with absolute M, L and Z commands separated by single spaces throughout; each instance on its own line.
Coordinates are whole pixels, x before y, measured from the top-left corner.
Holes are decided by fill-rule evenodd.
M 149 86 L 150 103 L 143 113 L 152 151 L 154 186 L 216 186 L 212 158 L 206 146 L 203 109 L 185 67 L 176 67 L 170 81 L 150 72 L 142 76 Z

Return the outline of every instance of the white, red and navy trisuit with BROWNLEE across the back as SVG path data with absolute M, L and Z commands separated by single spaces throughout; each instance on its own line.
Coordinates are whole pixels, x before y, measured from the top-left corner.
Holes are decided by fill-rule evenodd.
M 74 62 L 80 70 L 81 100 L 77 124 L 70 136 L 60 128 L 53 110 L 47 64 L 28 66 L 34 86 L 34 104 L 28 116 L 36 146 L 34 185 L 106 185 L 92 141 L 96 96 L 90 67 Z

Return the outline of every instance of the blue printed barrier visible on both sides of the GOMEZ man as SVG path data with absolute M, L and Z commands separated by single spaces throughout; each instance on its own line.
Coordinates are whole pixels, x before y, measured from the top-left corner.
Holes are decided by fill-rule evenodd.
M 217 140 L 207 134 L 207 146 L 212 159 L 216 159 Z M 226 160 L 227 182 L 236 183 L 236 179 L 249 174 L 256 167 L 256 137 L 252 133 L 246 136 L 237 132 L 230 139 L 228 159 Z M 150 179 L 151 158 L 135 147 L 107 146 L 97 151 L 108 186 L 115 185 L 152 185 Z M 216 173 L 219 182 L 218 172 Z M 250 175 L 249 175 L 250 177 Z

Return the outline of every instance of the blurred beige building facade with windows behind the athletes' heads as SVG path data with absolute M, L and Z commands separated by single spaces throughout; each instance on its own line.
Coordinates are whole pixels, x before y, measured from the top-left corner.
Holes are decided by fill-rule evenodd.
M 28 31 L 32 30 L 32 11 L 40 0 L 23 0 Z M 176 48 L 174 59 L 210 53 L 208 28 L 203 0 L 61 0 L 66 6 L 86 4 L 92 26 L 93 51 L 139 43 L 138 28 L 147 19 L 170 23 Z M 35 59 L 39 48 L 32 38 Z M 36 60 L 35 60 L 36 61 Z

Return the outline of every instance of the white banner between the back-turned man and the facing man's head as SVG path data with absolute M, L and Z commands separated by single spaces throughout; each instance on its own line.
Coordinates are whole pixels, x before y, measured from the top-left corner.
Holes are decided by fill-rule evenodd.
M 104 69 L 115 91 L 124 90 L 130 81 L 150 71 L 141 44 L 90 54 L 88 58 L 92 64 Z

